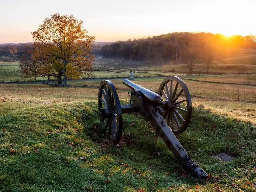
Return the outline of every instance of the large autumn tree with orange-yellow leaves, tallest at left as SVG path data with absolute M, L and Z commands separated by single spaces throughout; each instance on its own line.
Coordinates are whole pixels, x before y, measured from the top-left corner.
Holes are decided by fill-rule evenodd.
M 60 16 L 55 13 L 46 18 L 32 35 L 34 42 L 43 45 L 35 47 L 35 54 L 41 56 L 34 57 L 43 59 L 45 56 L 47 60 L 54 61 L 51 65 L 63 66 L 64 85 L 67 84 L 67 73 L 70 78 L 77 78 L 91 72 L 95 37 L 87 35 L 83 21 L 75 19 L 73 15 Z

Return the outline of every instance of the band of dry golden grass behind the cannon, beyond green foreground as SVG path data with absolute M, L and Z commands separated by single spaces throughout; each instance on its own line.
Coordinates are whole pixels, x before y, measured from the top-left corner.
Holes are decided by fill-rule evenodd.
M 129 88 L 122 84 L 121 80 L 113 80 L 112 82 L 117 88 L 120 100 L 128 103 Z M 134 82 L 157 92 L 162 79 L 137 80 Z M 211 109 L 214 113 L 227 115 L 243 121 L 250 121 L 256 124 L 256 103 L 252 103 L 252 101 L 256 100 L 256 87 L 193 81 L 185 82 L 192 95 L 193 106 L 204 105 L 205 108 Z M 88 84 L 95 86 L 95 88 L 60 88 L 44 84 L 0 84 L 0 105 L 5 108 L 5 111 L 9 111 L 15 110 L 15 107 L 12 107 L 13 102 L 19 103 L 20 108 L 22 108 L 23 105 L 28 106 L 29 104 L 50 106 L 52 104 L 67 105 L 88 101 L 97 102 L 97 86 L 100 85 L 100 81 L 71 84 Z M 236 101 L 238 95 L 240 101 Z M 245 102 L 241 102 L 241 100 Z

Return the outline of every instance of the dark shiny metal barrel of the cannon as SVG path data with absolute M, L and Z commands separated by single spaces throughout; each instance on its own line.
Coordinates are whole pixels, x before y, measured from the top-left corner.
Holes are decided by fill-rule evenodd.
M 157 93 L 150 91 L 149 89 L 146 89 L 140 85 L 137 85 L 133 83 L 132 81 L 128 79 L 123 80 L 123 84 L 125 84 L 127 87 L 129 87 L 132 90 L 139 90 L 140 93 L 150 102 L 152 102 L 155 106 L 160 106 L 163 104 L 163 98 L 158 95 Z

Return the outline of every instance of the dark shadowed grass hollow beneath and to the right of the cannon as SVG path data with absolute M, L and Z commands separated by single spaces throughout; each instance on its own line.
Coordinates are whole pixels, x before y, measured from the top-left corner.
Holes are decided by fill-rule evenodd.
M 87 113 L 88 111 L 84 111 L 84 114 Z M 95 110 L 90 114 L 82 115 L 82 121 L 84 122 L 89 116 L 93 116 L 91 118 L 94 119 L 99 118 Z M 172 152 L 166 148 L 160 138 L 155 137 L 156 132 L 153 127 L 140 115 L 124 114 L 123 122 L 123 136 L 116 146 L 111 144 L 107 135 L 99 135 L 98 120 L 92 122 L 89 130 L 85 129 L 92 141 L 101 146 L 102 153 L 120 158 L 122 162 L 130 164 L 134 171 L 147 167 L 146 169 L 153 170 L 155 175 L 160 172 L 168 173 L 174 180 L 178 178 L 177 180 L 185 185 L 193 185 L 196 182 L 205 184 L 205 181 L 199 181 L 191 174 L 186 176 L 185 170 L 181 168 Z M 231 177 L 243 178 L 246 172 L 255 166 L 256 128 L 251 123 L 220 116 L 199 106 L 193 108 L 187 130 L 177 137 L 191 157 L 209 173 L 209 181 L 230 184 Z M 235 160 L 222 162 L 213 157 L 222 152 L 236 157 Z M 237 167 L 242 168 L 237 171 Z M 182 175 L 186 178 L 180 178 Z M 221 178 L 221 175 L 224 177 L 228 175 L 230 180 Z

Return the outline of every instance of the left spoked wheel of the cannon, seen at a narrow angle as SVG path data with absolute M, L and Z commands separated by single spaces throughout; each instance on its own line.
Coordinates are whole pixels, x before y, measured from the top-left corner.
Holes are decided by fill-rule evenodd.
M 123 118 L 120 100 L 114 84 L 109 80 L 100 83 L 98 104 L 101 131 L 107 131 L 114 144 L 122 136 Z

